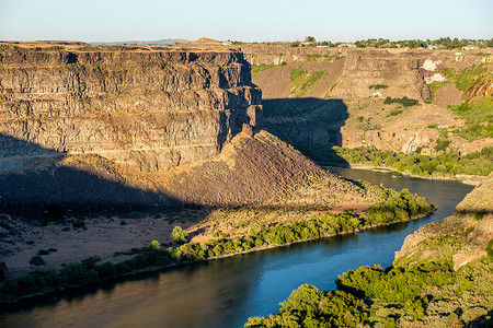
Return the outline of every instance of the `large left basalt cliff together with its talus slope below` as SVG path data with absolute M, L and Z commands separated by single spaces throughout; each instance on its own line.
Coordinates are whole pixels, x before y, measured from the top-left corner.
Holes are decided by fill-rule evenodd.
M 0 209 L 374 199 L 262 130 L 261 102 L 238 50 L 1 43 Z

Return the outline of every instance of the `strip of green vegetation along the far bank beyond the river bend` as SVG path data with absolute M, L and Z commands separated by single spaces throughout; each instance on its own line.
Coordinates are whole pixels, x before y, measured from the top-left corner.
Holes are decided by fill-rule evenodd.
M 445 142 L 445 141 L 444 141 Z M 440 145 L 445 145 L 440 143 Z M 353 164 L 370 164 L 397 168 L 399 172 L 423 176 L 440 177 L 455 174 L 486 176 L 493 171 L 493 148 L 467 155 L 446 153 L 437 156 L 379 151 L 375 148 L 343 149 L 334 147 L 336 153 Z

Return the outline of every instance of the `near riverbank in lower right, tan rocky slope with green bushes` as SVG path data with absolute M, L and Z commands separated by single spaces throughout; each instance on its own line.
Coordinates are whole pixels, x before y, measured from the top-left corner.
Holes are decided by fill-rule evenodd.
M 280 303 L 277 314 L 250 317 L 244 327 L 274 327 L 279 323 L 310 323 L 317 327 L 491 327 L 492 187 L 490 174 L 451 216 L 408 235 L 387 269 L 351 269 L 339 276 L 336 290 L 320 291 L 303 284 Z

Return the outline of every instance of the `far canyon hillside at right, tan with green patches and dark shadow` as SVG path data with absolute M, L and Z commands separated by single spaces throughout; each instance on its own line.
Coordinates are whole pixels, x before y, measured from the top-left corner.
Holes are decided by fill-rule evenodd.
M 306 153 L 314 144 L 425 154 L 493 144 L 491 49 L 238 47 L 263 91 L 267 130 Z

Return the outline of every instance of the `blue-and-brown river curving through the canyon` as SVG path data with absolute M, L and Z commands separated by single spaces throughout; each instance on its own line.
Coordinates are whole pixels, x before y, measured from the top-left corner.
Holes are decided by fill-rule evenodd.
M 438 210 L 416 221 L 378 227 L 84 289 L 0 312 L 0 327 L 242 327 L 248 317 L 279 309 L 294 289 L 311 283 L 335 289 L 339 274 L 360 266 L 392 263 L 406 235 L 450 215 L 473 187 L 455 181 L 394 177 L 339 168 L 365 179 L 425 196 Z

